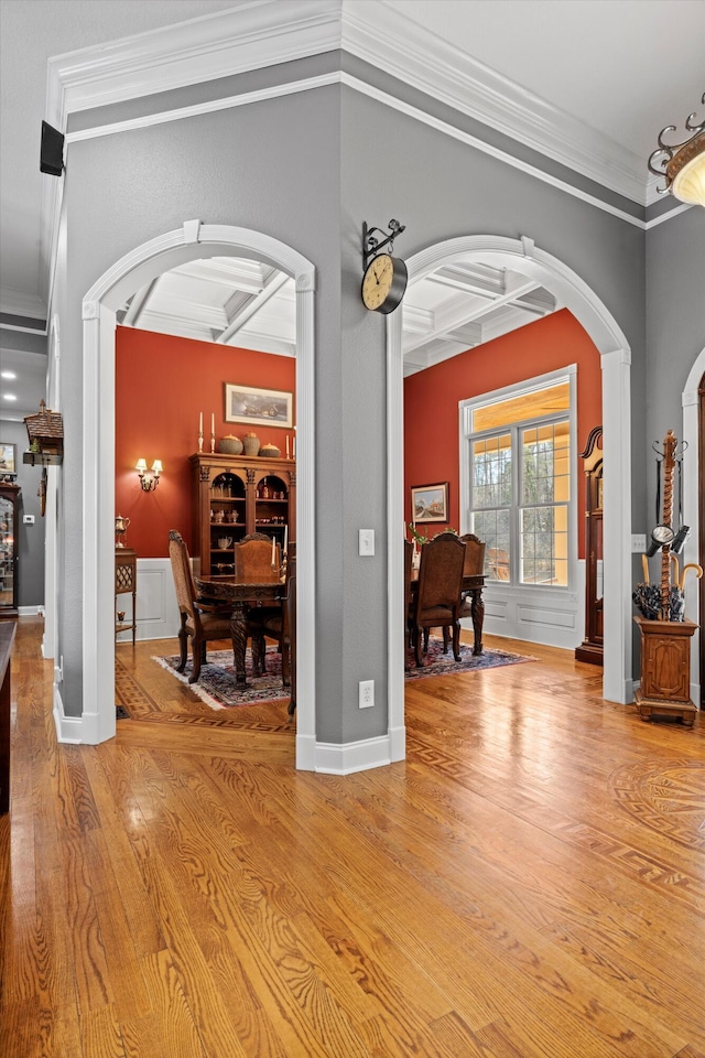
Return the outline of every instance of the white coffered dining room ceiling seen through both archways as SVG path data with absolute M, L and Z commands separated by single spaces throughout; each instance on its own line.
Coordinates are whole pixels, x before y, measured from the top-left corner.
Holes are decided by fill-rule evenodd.
M 118 322 L 141 331 L 295 356 L 294 281 L 258 261 L 213 257 L 164 272 L 138 290 Z M 403 302 L 404 374 L 438 364 L 555 312 L 525 276 L 459 263 L 413 281 Z

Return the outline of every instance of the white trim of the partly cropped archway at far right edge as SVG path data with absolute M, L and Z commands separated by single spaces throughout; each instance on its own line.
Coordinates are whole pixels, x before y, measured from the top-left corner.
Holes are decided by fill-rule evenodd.
M 699 538 L 699 510 L 698 510 L 698 411 L 699 399 L 697 389 L 701 379 L 705 375 L 705 349 L 696 357 L 695 364 L 691 368 L 685 389 L 683 390 L 683 441 L 687 449 L 683 456 L 683 523 L 691 527 L 691 535 L 685 541 L 683 549 L 682 565 L 687 562 L 697 562 L 697 541 Z M 685 598 L 685 616 L 695 624 L 698 620 L 698 593 L 691 590 Z M 699 650 L 701 650 L 701 630 L 699 628 L 693 636 L 693 648 L 691 650 L 691 699 L 702 708 L 703 689 L 701 687 L 699 673 Z

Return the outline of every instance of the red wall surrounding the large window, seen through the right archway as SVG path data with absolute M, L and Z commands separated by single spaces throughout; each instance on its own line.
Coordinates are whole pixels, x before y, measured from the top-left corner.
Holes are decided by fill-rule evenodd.
M 458 401 L 577 364 L 578 554 L 585 557 L 585 490 L 579 453 L 603 421 L 599 353 L 567 309 L 404 379 L 405 519 L 411 487 L 449 483 L 449 525 L 460 528 Z M 429 526 L 431 536 L 444 526 Z

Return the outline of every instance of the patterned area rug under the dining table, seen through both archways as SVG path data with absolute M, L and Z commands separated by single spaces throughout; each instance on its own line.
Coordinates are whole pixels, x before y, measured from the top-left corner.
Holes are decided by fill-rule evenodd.
M 189 660 L 183 672 L 177 672 L 178 655 L 173 657 L 153 658 L 164 669 L 170 671 L 182 683 L 187 683 L 193 665 Z M 495 669 L 502 665 L 518 665 L 521 661 L 535 661 L 535 658 L 521 654 L 510 654 L 507 650 L 482 651 L 479 657 L 473 655 L 473 647 L 460 645 L 460 660 L 455 661 L 453 651 L 443 654 L 443 640 L 431 638 L 429 650 L 423 655 L 423 666 L 417 669 L 410 651 L 411 669 L 405 673 L 408 680 L 426 679 L 430 676 L 456 676 L 463 672 L 479 672 L 482 669 Z M 189 688 L 203 702 L 213 709 L 230 709 L 236 705 L 252 705 L 256 702 L 288 702 L 289 690 L 282 687 L 281 655 L 275 647 L 267 649 L 267 673 L 252 676 L 250 652 L 246 656 L 247 687 L 238 688 L 235 681 L 231 650 L 208 651 L 207 665 L 200 666 L 200 674 L 196 683 Z

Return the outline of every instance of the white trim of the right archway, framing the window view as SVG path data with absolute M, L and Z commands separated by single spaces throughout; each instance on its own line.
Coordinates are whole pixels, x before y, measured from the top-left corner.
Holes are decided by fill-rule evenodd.
M 477 260 L 511 268 L 535 279 L 571 310 L 597 346 L 603 368 L 605 451 L 605 658 L 603 694 L 626 704 L 633 700 L 631 671 L 631 403 L 629 343 L 606 305 L 571 268 L 536 248 L 532 239 L 476 235 L 448 239 L 406 260 L 409 279 L 423 278 L 441 264 Z M 403 311 L 403 310 L 402 310 Z M 389 728 L 403 734 L 403 386 L 402 321 L 388 317 L 388 587 Z M 401 741 L 401 735 L 400 735 Z

